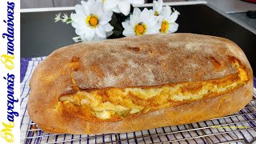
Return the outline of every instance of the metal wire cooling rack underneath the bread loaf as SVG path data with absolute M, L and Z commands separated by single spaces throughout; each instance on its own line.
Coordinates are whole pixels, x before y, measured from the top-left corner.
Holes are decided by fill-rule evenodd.
M 233 115 L 126 134 L 49 134 L 30 120 L 24 143 L 256 143 L 256 96 Z

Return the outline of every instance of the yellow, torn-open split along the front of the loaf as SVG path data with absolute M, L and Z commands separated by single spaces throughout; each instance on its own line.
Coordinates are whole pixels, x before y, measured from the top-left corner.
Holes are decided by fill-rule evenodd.
M 246 70 L 240 66 L 238 60 L 234 62 L 234 66 L 238 74 L 206 82 L 182 82 L 148 88 L 78 90 L 75 94 L 61 96 L 59 102 L 62 102 L 64 107 L 75 106 L 86 113 L 89 111 L 90 114 L 82 114 L 85 118 L 116 122 L 130 115 L 178 106 L 202 98 L 212 98 L 234 90 L 248 81 Z

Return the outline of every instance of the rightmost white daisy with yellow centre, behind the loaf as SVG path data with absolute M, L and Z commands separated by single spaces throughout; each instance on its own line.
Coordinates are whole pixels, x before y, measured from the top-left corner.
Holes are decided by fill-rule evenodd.
M 163 7 L 162 14 L 158 16 L 158 26 L 161 33 L 174 33 L 178 30 L 178 23 L 175 21 L 178 18 L 178 11 L 172 13 L 170 6 Z

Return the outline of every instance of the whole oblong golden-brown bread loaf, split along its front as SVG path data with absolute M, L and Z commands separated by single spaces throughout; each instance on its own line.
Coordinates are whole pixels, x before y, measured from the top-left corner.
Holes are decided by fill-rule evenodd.
M 55 50 L 30 81 L 28 112 L 50 133 L 106 134 L 234 114 L 253 73 L 230 40 L 153 34 Z

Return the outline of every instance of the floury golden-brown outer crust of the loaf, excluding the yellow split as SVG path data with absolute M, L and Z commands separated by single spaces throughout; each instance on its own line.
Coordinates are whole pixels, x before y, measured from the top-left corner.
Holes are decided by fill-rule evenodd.
M 158 86 L 223 78 L 245 66 L 249 82 L 228 94 L 119 122 L 87 122 L 58 106 L 58 98 L 79 89 Z M 233 114 L 252 98 L 252 70 L 242 50 L 225 38 L 198 34 L 154 34 L 80 43 L 54 51 L 34 70 L 28 112 L 51 133 L 102 134 L 174 126 Z M 58 107 L 58 109 L 57 109 Z

